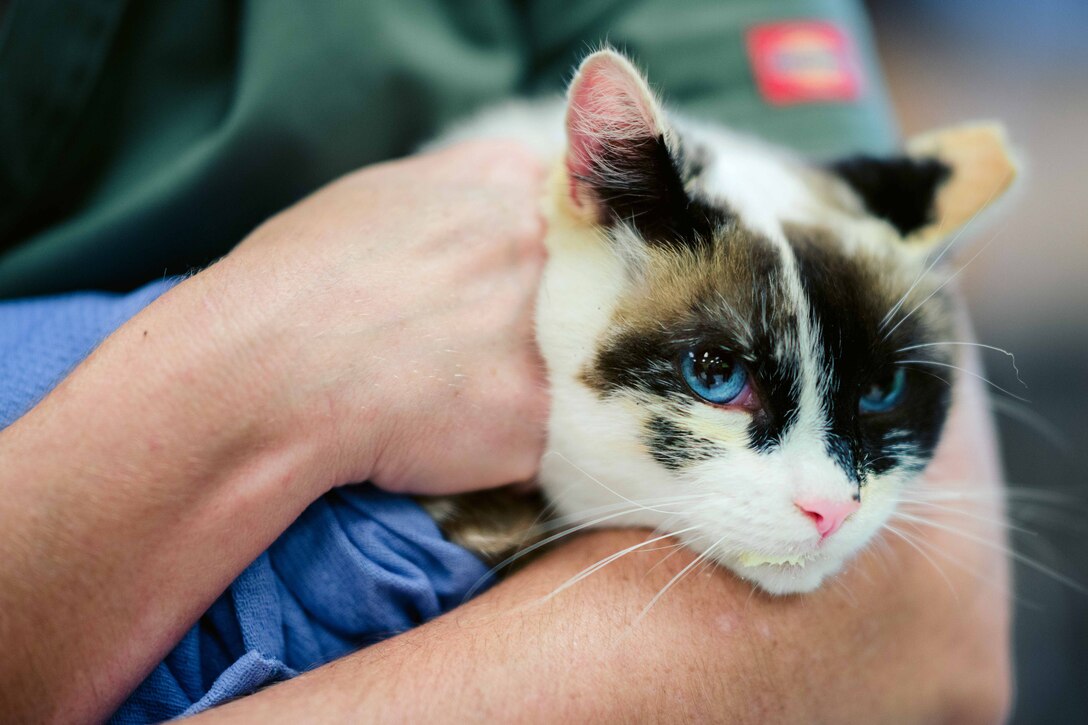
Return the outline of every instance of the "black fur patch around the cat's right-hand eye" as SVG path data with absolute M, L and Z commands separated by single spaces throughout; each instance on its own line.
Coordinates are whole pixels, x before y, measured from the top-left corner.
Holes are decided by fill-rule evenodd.
M 888 309 L 897 302 L 892 291 L 882 291 L 876 270 L 857 257 L 849 257 L 813 230 L 787 228 L 787 236 L 798 259 L 801 283 L 816 322 L 821 343 L 821 376 L 827 380 L 825 400 L 828 432 L 826 448 L 851 480 L 864 483 L 869 475 L 880 475 L 912 460 L 927 460 L 940 437 L 948 414 L 949 386 L 924 371 L 906 368 L 906 393 L 898 406 L 886 413 L 861 414 L 858 397 L 874 380 L 886 378 L 903 355 L 903 347 L 943 340 L 943 330 L 930 329 L 922 314 L 913 314 L 880 329 Z M 902 294 L 905 290 L 900 291 Z M 941 305 L 935 296 L 927 304 Z M 913 305 L 905 306 L 905 316 Z M 938 316 L 943 319 L 943 316 Z M 897 327 L 898 323 L 898 327 Z M 888 331 L 895 329 L 888 334 Z M 887 339 L 885 336 L 887 335 Z M 911 351 L 907 357 L 935 361 L 940 348 Z M 901 431 L 907 431 L 903 437 Z M 902 448 L 894 443 L 907 443 Z

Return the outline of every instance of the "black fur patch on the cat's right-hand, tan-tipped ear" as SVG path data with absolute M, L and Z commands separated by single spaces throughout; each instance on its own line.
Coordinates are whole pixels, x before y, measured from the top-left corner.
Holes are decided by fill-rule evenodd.
M 906 236 L 934 221 L 937 188 L 952 170 L 936 159 L 856 156 L 830 164 L 875 217 Z

